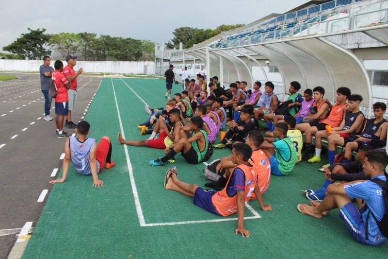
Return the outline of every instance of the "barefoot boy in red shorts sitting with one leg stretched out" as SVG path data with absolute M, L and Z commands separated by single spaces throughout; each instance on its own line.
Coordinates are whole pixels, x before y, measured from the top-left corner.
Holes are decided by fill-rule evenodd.
M 176 136 L 181 127 L 183 127 L 182 122 L 179 120 L 180 111 L 176 108 L 169 111 L 168 120 L 170 123 L 167 125 L 164 120 L 159 120 L 156 122 L 154 131 L 159 132 L 159 138 L 153 139 L 142 139 L 142 140 L 125 140 L 120 133 L 117 135 L 118 142 L 120 144 L 127 144 L 130 146 L 146 146 L 150 148 L 166 149 L 174 144 Z M 177 139 L 178 140 L 178 139 Z

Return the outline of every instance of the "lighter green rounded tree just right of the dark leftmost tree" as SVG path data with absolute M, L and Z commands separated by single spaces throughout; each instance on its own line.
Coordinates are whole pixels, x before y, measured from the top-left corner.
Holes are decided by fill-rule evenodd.
M 49 45 L 65 58 L 67 54 L 79 51 L 80 40 L 80 35 L 74 33 L 58 33 L 51 35 Z

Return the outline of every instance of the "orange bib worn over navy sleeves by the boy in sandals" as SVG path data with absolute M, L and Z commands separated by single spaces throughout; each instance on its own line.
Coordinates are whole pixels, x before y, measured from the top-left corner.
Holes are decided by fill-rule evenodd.
M 257 173 L 252 166 L 239 165 L 236 168 L 239 168 L 244 172 L 245 175 L 245 191 L 244 191 L 244 202 L 247 203 L 252 196 L 253 191 L 257 183 Z M 233 170 L 234 171 L 234 170 Z M 223 190 L 216 192 L 211 197 L 211 203 L 214 208 L 221 216 L 229 216 L 237 212 L 237 194 L 233 197 L 227 195 L 227 186 L 232 177 L 229 177 L 227 180 L 226 186 Z

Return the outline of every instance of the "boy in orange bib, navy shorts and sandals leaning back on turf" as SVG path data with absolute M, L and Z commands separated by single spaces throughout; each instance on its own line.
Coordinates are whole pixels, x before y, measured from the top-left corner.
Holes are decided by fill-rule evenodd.
M 194 197 L 194 204 L 210 213 L 227 217 L 237 212 L 237 228 L 235 234 L 241 233 L 249 237 L 249 231 L 243 226 L 245 203 L 255 193 L 262 210 L 271 211 L 271 205 L 264 205 L 258 186 L 258 175 L 248 162 L 252 149 L 245 143 L 233 146 L 231 161 L 237 166 L 234 168 L 226 187 L 221 191 L 203 190 L 197 185 L 191 185 L 178 179 L 176 168 L 166 173 L 164 187 L 166 190 L 175 190 L 184 195 Z

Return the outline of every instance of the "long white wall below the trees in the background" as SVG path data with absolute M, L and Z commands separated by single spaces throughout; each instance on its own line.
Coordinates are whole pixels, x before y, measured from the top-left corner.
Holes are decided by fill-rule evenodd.
M 54 67 L 51 61 L 50 66 Z M 66 66 L 66 62 L 64 65 Z M 83 68 L 86 73 L 147 74 L 155 73 L 153 61 L 77 61 L 76 70 Z M 38 71 L 41 60 L 0 59 L 0 71 Z M 145 69 L 146 66 L 146 69 Z

